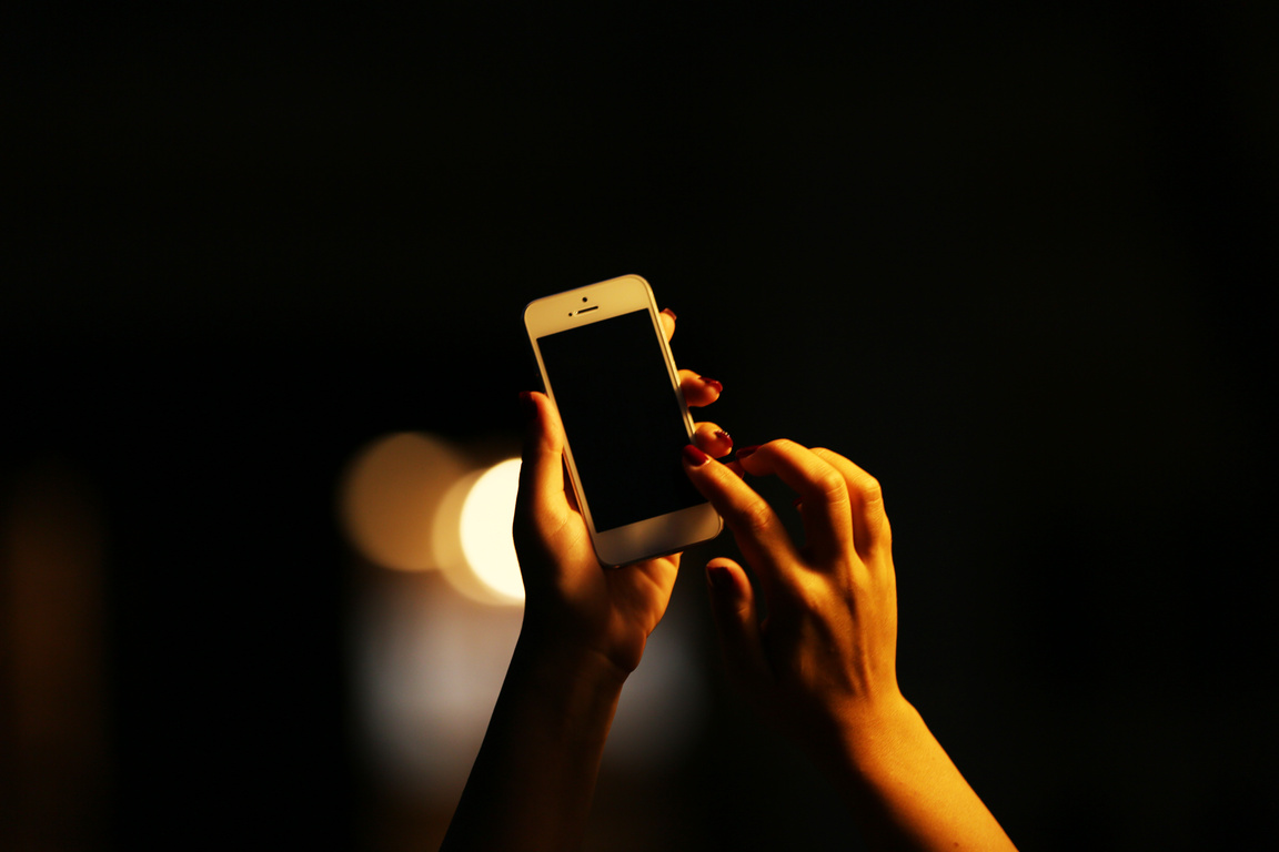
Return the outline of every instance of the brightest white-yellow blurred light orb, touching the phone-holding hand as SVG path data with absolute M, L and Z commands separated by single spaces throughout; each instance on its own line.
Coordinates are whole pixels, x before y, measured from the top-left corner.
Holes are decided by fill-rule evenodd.
M 521 603 L 524 582 L 515 558 L 510 520 L 519 491 L 519 459 L 506 459 L 480 474 L 462 501 L 459 534 L 471 574 L 499 602 Z

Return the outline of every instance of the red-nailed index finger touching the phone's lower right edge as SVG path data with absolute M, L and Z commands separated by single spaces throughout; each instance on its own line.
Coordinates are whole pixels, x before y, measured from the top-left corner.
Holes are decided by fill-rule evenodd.
M 783 575 L 794 571 L 799 554 L 767 501 L 728 466 L 692 447 L 684 451 L 684 470 L 733 530 L 742 556 L 765 585 L 765 594 Z

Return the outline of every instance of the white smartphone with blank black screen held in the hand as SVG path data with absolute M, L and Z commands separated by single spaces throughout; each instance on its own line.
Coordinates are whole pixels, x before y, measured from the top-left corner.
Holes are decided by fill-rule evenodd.
M 537 299 L 524 327 L 564 422 L 565 466 L 600 562 L 719 535 L 720 516 L 680 460 L 693 419 L 648 282 L 627 275 Z

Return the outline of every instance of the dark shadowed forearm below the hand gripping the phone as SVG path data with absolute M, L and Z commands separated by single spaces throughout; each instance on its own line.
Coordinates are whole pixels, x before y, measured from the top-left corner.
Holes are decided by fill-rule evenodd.
M 522 636 L 443 849 L 579 847 L 623 680 Z

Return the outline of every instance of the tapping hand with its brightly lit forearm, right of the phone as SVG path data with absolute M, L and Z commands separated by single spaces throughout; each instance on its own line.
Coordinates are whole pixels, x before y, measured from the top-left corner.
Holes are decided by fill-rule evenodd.
M 792 441 L 738 450 L 733 469 L 689 446 L 684 465 L 733 531 L 769 612 L 761 622 L 741 565 L 707 565 L 729 673 L 826 769 L 871 843 L 1013 849 L 898 686 L 891 529 L 875 478 Z M 798 494 L 803 547 L 738 468 Z

